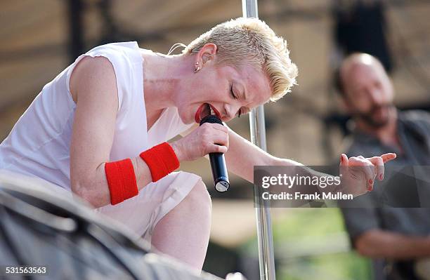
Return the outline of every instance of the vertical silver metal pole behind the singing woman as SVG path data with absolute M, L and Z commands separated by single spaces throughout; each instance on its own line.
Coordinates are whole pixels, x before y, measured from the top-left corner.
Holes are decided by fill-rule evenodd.
M 242 11 L 244 18 L 259 18 L 257 0 L 242 0 Z M 264 124 L 264 107 L 260 105 L 252 109 L 249 114 L 249 126 L 251 128 L 251 140 L 266 151 L 266 127 Z M 254 194 L 259 189 L 254 185 Z M 259 199 L 254 195 L 254 200 Z M 275 280 L 275 258 L 273 253 L 273 235 L 271 222 L 271 208 L 268 201 L 255 201 L 257 240 L 259 243 L 259 265 L 261 280 Z

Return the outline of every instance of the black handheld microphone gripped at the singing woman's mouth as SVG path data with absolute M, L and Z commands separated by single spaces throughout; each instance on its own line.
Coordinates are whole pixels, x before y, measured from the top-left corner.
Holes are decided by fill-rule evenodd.
M 223 122 L 217 116 L 210 114 L 205 116 L 200 121 L 200 126 L 204 123 L 209 124 L 221 124 Z M 230 182 L 228 182 L 228 173 L 226 166 L 226 158 L 223 153 L 209 153 L 209 161 L 211 162 L 212 176 L 214 176 L 215 189 L 219 192 L 226 192 L 228 187 L 230 187 Z

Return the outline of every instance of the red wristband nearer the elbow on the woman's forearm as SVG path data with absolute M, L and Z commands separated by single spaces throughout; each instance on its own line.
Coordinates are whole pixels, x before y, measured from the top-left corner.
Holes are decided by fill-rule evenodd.
M 107 162 L 105 164 L 107 185 L 109 185 L 110 204 L 136 196 L 139 192 L 131 159 Z

